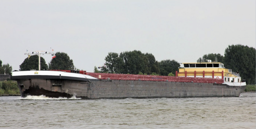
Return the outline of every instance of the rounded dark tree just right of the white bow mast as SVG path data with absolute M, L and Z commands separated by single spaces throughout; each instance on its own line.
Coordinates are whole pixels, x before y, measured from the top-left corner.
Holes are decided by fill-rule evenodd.
M 74 70 L 73 60 L 67 53 L 56 52 L 55 58 L 49 62 L 49 70 Z

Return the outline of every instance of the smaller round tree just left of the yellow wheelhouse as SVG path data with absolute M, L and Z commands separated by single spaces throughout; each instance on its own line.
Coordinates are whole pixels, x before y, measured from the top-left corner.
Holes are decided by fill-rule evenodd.
M 163 76 L 167 76 L 169 73 L 175 73 L 179 70 L 180 63 L 175 60 L 162 60 L 159 63 L 160 73 Z

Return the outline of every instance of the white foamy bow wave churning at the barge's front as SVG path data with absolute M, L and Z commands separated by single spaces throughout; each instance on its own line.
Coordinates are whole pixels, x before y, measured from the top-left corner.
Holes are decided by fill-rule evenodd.
M 41 96 L 27 96 L 25 98 L 20 97 L 19 99 L 33 99 L 33 100 L 75 100 L 75 99 L 81 99 L 81 98 L 76 98 L 75 96 L 72 96 L 71 98 L 66 98 L 66 97 L 59 97 L 59 98 L 51 98 L 51 97 L 46 97 L 44 95 Z

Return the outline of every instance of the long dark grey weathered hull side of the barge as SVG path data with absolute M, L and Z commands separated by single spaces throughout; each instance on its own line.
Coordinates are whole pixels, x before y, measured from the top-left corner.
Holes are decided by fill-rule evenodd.
M 65 79 L 16 80 L 20 95 L 76 96 L 82 99 L 239 97 L 246 86 L 215 83 L 157 82 L 137 80 L 77 81 Z

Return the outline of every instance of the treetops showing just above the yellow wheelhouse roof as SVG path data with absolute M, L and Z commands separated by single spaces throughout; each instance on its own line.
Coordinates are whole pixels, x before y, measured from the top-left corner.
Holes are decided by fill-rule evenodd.
M 215 60 L 215 57 L 217 58 L 217 60 Z M 204 62 L 206 62 L 206 60 L 212 60 L 212 61 L 216 61 L 216 62 L 222 62 L 223 63 L 223 59 L 224 59 L 224 56 L 222 56 L 221 54 L 213 54 L 213 53 L 209 53 L 209 54 L 205 54 L 205 55 L 203 55 L 203 57 L 201 58 L 199 58 L 198 60 L 197 60 L 197 62 L 202 62 L 202 61 L 204 61 Z

